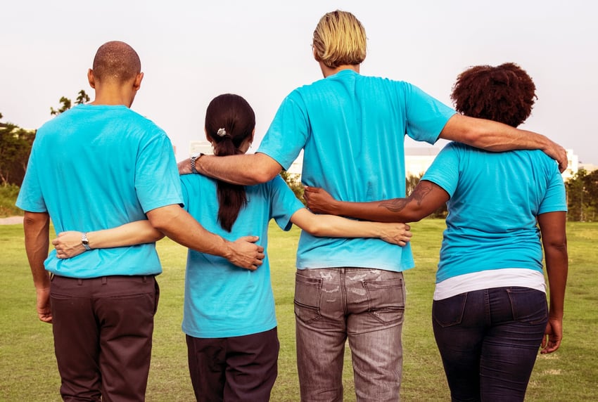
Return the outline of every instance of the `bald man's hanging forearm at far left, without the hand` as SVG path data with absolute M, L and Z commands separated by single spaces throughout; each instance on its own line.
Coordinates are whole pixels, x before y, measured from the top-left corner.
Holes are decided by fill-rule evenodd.
M 50 245 L 50 216 L 46 213 L 25 212 L 25 252 L 37 290 L 50 287 L 50 276 L 44 268 Z

